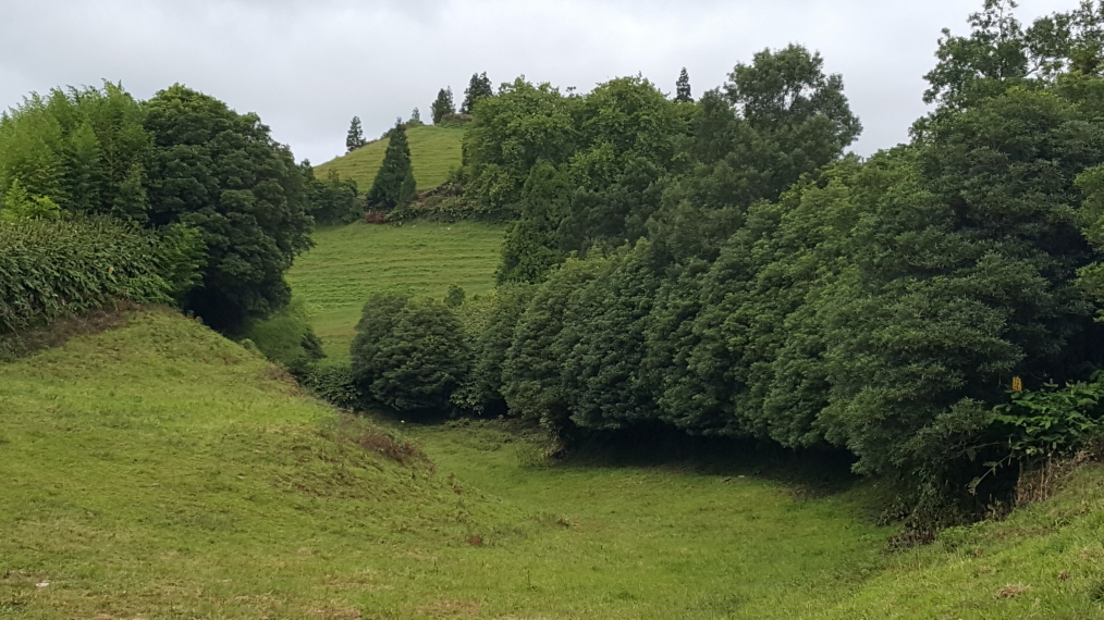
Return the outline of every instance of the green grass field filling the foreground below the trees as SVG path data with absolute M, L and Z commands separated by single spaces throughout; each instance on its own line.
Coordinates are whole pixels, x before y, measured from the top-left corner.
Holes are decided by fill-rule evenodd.
M 1100 467 L 887 555 L 867 485 L 341 418 L 167 311 L 0 364 L 0 404 L 3 618 L 1104 618 Z

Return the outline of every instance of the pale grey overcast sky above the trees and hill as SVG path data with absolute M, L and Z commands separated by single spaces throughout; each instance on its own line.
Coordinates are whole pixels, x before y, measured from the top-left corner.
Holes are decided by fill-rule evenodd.
M 1023 21 L 1076 0 L 1021 0 Z M 907 139 L 943 28 L 981 0 L 0 0 L 0 108 L 60 85 L 123 82 L 148 98 L 176 82 L 256 111 L 296 157 L 344 152 L 471 74 L 587 90 L 643 74 L 694 95 L 764 47 L 803 43 L 841 73 L 862 119 L 854 150 Z

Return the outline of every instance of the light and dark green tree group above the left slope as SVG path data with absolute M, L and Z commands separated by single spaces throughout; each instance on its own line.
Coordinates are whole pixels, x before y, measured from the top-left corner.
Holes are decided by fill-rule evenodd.
M 178 267 L 197 275 L 183 278 L 189 286 L 169 289 L 183 311 L 226 333 L 288 304 L 284 274 L 310 247 L 315 221 L 348 220 L 357 194 L 349 181 L 316 180 L 309 162 L 296 163 L 256 115 L 179 84 L 146 101 L 110 83 L 59 88 L 0 116 L 0 220 L 64 220 L 70 224 L 57 228 L 59 239 L 76 239 L 84 225 L 86 243 L 71 245 L 95 253 L 96 244 L 108 244 L 99 248 L 105 255 L 116 248 L 103 231 L 119 226 L 145 232 L 134 237 L 135 247 L 146 238 L 185 239 L 198 258 L 183 253 Z M 32 240 L 49 244 L 35 226 L 12 228 L 29 231 L 24 247 L 0 253 L 26 250 Z M 45 257 L 60 247 L 32 254 Z M 136 256 L 126 250 L 128 260 Z M 174 269 L 160 259 L 156 266 Z M 30 280 L 20 278 L 49 272 L 6 270 L 0 288 L 30 290 Z M 35 290 L 46 297 L 62 286 L 40 285 Z

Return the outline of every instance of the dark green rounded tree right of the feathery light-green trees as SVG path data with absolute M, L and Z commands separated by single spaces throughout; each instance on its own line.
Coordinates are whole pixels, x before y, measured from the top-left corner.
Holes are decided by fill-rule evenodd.
M 311 245 L 304 177 L 291 152 L 255 114 L 179 84 L 145 111 L 152 139 L 147 224 L 195 227 L 206 246 L 203 281 L 183 309 L 237 331 L 287 306 L 284 272 Z

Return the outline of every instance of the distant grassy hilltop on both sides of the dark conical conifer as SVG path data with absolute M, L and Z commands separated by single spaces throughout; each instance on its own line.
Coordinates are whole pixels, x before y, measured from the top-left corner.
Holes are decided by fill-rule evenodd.
M 464 128 L 415 127 L 406 131 L 411 145 L 411 160 L 418 190 L 432 190 L 448 180 L 452 170 L 460 164 L 460 141 Z M 361 192 L 372 186 L 375 173 L 383 163 L 388 140 L 376 140 L 355 151 L 315 167 L 315 174 L 322 179 L 337 170 L 343 179 L 357 181 Z

